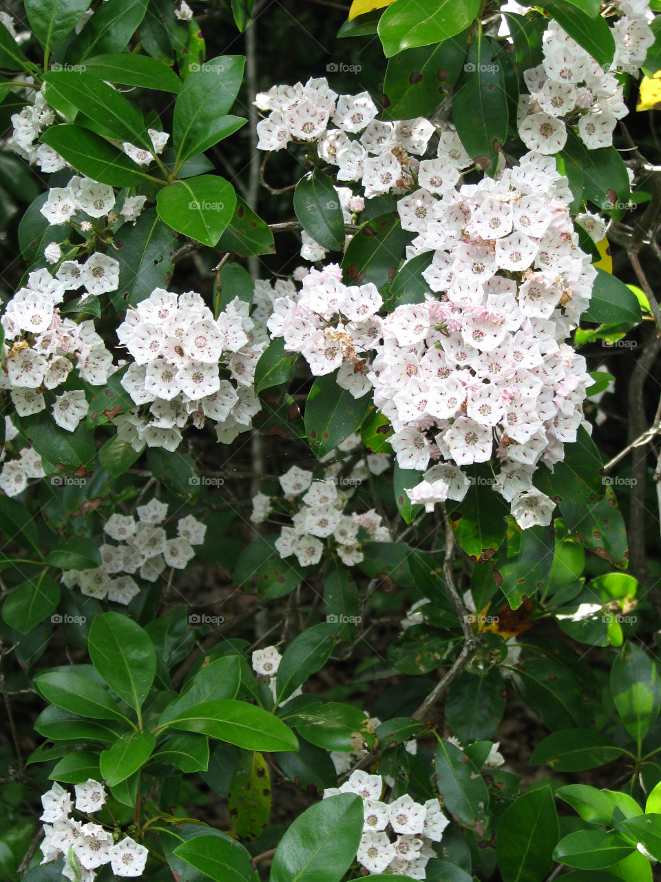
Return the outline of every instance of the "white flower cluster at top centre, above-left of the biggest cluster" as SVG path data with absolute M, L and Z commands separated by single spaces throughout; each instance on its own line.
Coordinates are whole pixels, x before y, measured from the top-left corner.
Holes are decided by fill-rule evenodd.
M 325 78 L 308 79 L 305 86 L 273 86 L 259 93 L 255 103 L 270 111 L 257 123 L 260 150 L 280 150 L 293 140 L 316 142 L 319 157 L 338 166 L 338 181 L 360 182 L 365 198 L 406 185 L 409 154 L 425 153 L 434 134 L 424 117 L 376 120 L 378 108 L 368 92 L 338 96 Z

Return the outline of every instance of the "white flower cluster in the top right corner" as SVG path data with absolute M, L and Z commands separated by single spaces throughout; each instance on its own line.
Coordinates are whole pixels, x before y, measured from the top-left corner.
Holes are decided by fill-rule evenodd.
M 609 19 L 615 41 L 610 69 L 599 66 L 557 21 L 546 28 L 542 63 L 524 71 L 530 94 L 519 100 L 518 131 L 529 150 L 558 153 L 567 141 L 567 125 L 576 126 L 588 150 L 613 144 L 617 121 L 628 114 L 617 77 L 637 76 L 654 43 L 648 0 L 620 0 L 613 5 L 622 14 Z

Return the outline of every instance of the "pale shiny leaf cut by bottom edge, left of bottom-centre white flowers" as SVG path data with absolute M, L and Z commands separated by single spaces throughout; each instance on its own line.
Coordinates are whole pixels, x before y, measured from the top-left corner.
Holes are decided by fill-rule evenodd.
M 271 882 L 339 882 L 353 863 L 362 825 L 362 800 L 353 793 L 311 805 L 280 840 Z

